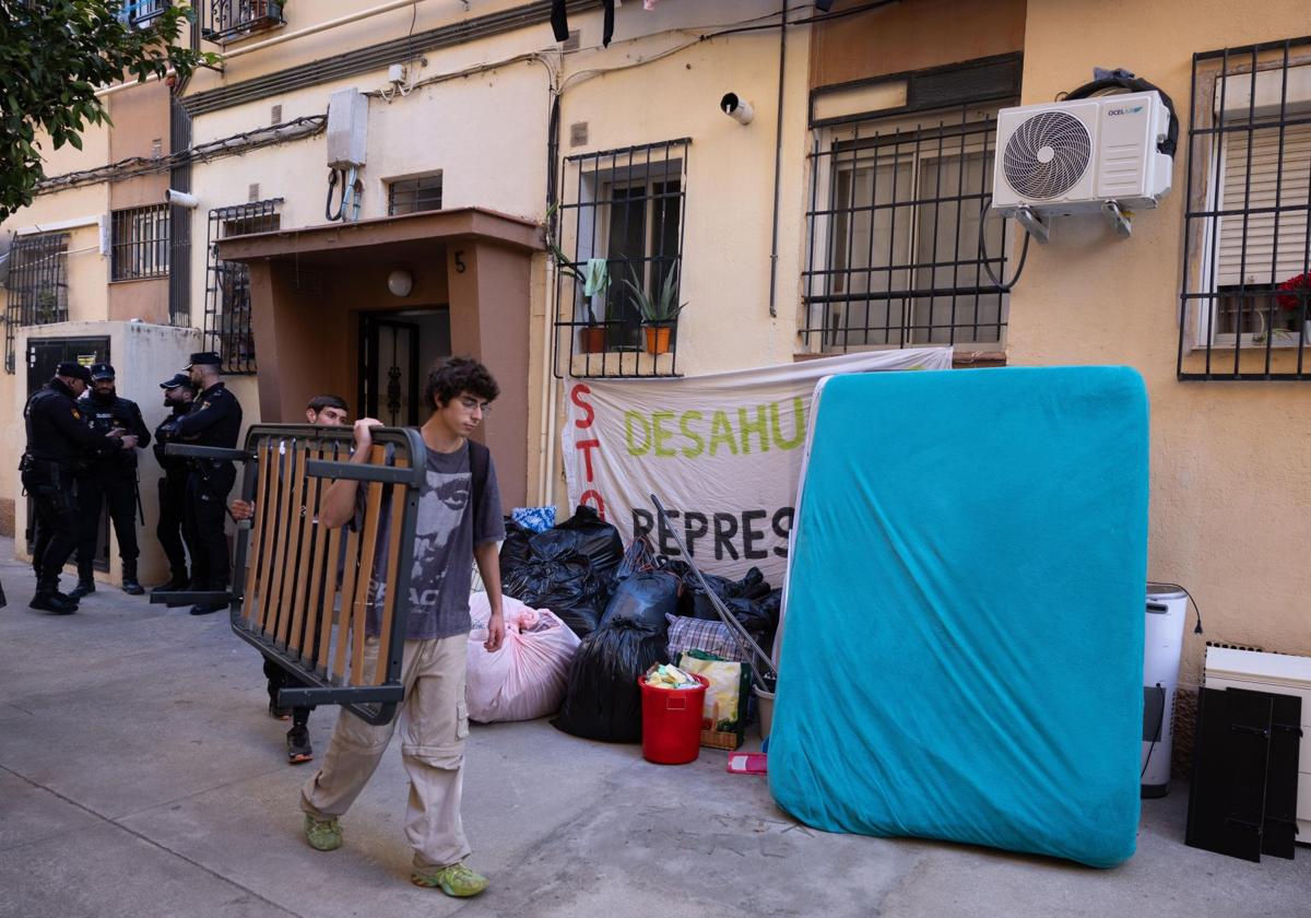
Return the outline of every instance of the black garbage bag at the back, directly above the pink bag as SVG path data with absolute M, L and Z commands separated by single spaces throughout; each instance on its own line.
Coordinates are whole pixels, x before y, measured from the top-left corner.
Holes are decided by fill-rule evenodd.
M 549 609 L 585 637 L 606 611 L 623 552 L 619 530 L 589 506 L 544 532 L 506 522 L 501 589 L 534 609 Z

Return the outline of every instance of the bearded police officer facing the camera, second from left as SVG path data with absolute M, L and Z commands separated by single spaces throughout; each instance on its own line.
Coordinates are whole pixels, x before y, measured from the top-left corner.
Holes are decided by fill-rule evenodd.
M 92 564 L 96 560 L 96 535 L 100 529 L 101 506 L 109 505 L 109 518 L 118 536 L 118 556 L 123 559 L 123 593 L 140 595 L 146 590 L 136 581 L 136 450 L 149 446 L 151 431 L 142 420 L 142 409 L 135 401 L 123 399 L 114 388 L 114 367 L 94 363 L 90 369 L 90 391 L 79 401 L 83 420 L 101 434 L 123 430 L 122 443 L 132 449 L 106 446 L 101 439 L 87 451 L 87 462 L 77 475 L 77 513 L 81 517 L 81 538 L 77 543 L 77 588 L 69 593 L 76 599 L 96 591 Z

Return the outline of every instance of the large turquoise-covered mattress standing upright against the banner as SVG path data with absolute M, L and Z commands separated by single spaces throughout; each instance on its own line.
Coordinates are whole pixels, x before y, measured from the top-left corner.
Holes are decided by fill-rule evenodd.
M 770 787 L 827 831 L 1112 867 L 1142 737 L 1147 396 L 1126 367 L 821 384 Z

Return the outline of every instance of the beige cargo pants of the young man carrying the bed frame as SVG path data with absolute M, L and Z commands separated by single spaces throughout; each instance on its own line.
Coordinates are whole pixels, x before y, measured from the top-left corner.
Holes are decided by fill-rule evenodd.
M 387 744 L 401 724 L 401 762 L 410 780 L 405 838 L 414 866 L 447 867 L 469 855 L 460 821 L 464 738 L 469 733 L 464 703 L 468 633 L 405 641 L 401 682 L 405 700 L 397 716 L 372 727 L 347 711 L 337 717 L 323 767 L 300 791 L 300 808 L 316 818 L 341 816 L 364 789 Z M 378 639 L 364 645 L 364 670 L 374 671 Z

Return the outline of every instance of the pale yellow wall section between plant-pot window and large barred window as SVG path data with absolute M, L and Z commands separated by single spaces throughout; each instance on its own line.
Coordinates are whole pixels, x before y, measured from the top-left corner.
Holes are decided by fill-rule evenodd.
M 671 3 L 657 9 L 663 17 L 661 28 L 684 25 L 688 31 L 676 37 L 656 35 L 637 47 L 619 46 L 590 58 L 570 59 L 569 72 L 650 56 L 682 43 L 686 34 L 713 30 L 714 24 L 775 12 L 768 4 L 747 3 L 714 4 L 713 8 Z M 640 9 L 632 9 L 631 14 L 645 21 Z M 617 22 L 623 22 L 621 16 Z M 585 31 L 585 43 L 587 38 Z M 678 371 L 684 375 L 787 363 L 796 350 L 808 195 L 809 31 L 806 28 L 788 30 L 775 268 L 777 316 L 771 317 L 770 236 L 780 117 L 779 39 L 777 30 L 762 30 L 701 42 L 644 67 L 581 81 L 565 93 L 561 105 L 561 152 L 565 156 L 691 138 L 680 274 L 680 299 L 688 306 L 679 316 L 678 328 Z M 568 75 L 565 80 L 568 83 Z M 738 125 L 720 111 L 720 98 L 730 90 L 755 109 L 750 125 Z M 586 146 L 569 146 L 569 126 L 576 122 L 587 122 Z M 548 342 L 540 341 L 535 351 L 549 359 Z M 551 490 L 541 493 L 547 502 L 555 502 L 568 514 L 570 508 L 558 462 L 564 410 L 558 387 L 549 401 L 555 417 L 543 431 L 548 450 L 543 454 L 543 467 Z

